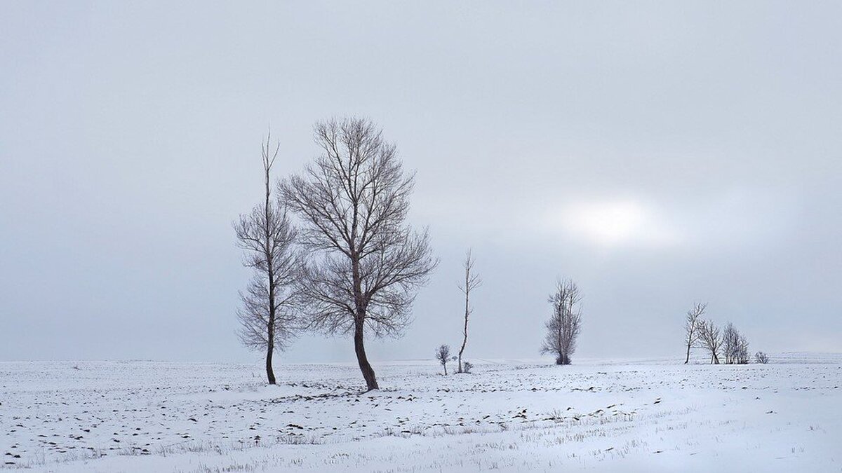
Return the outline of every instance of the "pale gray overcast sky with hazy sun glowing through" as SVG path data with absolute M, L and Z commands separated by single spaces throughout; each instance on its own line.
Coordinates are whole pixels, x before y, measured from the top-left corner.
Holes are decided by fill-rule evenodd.
M 534 358 L 558 276 L 579 357 L 680 357 L 709 302 L 751 348 L 842 351 L 839 3 L 0 5 L 0 359 L 248 361 L 231 221 L 312 124 L 375 120 L 441 263 L 401 339 Z M 302 337 L 285 361 L 349 361 Z M 575 360 L 575 358 L 574 358 Z

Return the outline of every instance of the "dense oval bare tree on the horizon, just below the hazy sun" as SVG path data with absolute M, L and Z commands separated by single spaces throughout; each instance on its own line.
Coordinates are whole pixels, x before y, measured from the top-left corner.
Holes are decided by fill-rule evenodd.
M 582 327 L 582 295 L 572 280 L 559 280 L 550 296 L 552 317 L 545 323 L 546 337 L 541 353 L 556 355 L 556 364 L 570 364 L 576 351 L 576 337 Z

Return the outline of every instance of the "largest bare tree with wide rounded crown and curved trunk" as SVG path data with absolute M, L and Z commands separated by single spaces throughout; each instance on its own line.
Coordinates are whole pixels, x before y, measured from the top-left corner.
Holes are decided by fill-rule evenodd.
M 405 225 L 414 175 L 405 175 L 395 146 L 369 120 L 317 123 L 322 155 L 280 185 L 301 218 L 310 252 L 301 278 L 306 326 L 350 333 L 368 390 L 378 388 L 365 355 L 366 327 L 399 336 L 411 320 L 415 290 L 437 262 L 426 230 Z

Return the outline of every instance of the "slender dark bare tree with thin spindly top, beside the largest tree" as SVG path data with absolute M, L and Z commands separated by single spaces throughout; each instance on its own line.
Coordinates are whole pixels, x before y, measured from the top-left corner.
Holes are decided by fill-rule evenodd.
M 284 349 L 293 335 L 295 313 L 290 301 L 299 265 L 293 248 L 296 230 L 286 215 L 283 203 L 272 199 L 269 179 L 280 143 L 272 151 L 269 148 L 270 138 L 268 136 L 261 146 L 264 202 L 254 206 L 251 213 L 240 215 L 233 226 L 237 247 L 245 252 L 243 265 L 253 268 L 253 277 L 247 289 L 240 292 L 242 306 L 237 310 L 240 322 L 238 335 L 246 347 L 265 350 L 266 377 L 269 384 L 274 385 L 274 349 Z

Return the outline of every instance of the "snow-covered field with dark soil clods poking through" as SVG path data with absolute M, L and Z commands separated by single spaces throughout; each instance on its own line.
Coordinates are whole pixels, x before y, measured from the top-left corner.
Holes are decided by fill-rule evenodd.
M 6 468 L 842 471 L 842 356 L 767 365 L 0 363 Z

